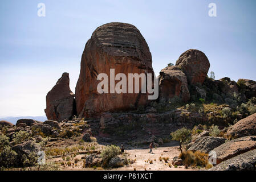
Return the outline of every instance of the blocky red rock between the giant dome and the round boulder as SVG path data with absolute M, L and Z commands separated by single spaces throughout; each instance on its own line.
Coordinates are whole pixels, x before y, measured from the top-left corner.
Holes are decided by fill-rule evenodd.
M 160 99 L 167 101 L 174 96 L 182 98 L 184 102 L 189 101 L 190 94 L 185 73 L 175 66 L 162 69 L 160 72 L 159 93 Z

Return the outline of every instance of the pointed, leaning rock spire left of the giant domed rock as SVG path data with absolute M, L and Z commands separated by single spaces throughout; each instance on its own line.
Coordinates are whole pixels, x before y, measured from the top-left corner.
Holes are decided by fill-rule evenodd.
M 62 121 L 72 118 L 75 112 L 74 93 L 70 90 L 70 77 L 63 73 L 46 96 L 46 116 L 50 120 Z

